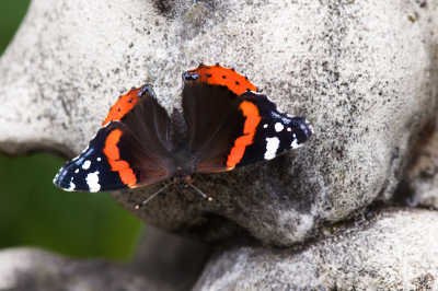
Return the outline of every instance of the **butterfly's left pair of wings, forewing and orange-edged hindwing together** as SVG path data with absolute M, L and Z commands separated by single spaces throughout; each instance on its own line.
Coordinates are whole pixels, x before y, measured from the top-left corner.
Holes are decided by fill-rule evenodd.
M 146 186 L 170 175 L 170 118 L 148 85 L 131 89 L 110 109 L 87 149 L 54 183 L 66 190 L 108 191 Z

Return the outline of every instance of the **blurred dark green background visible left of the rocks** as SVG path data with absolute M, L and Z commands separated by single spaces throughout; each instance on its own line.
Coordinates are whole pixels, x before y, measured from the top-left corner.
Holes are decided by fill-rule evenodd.
M 0 0 L 0 56 L 30 2 Z M 65 162 L 44 153 L 0 154 L 0 248 L 36 246 L 68 256 L 128 261 L 143 228 L 141 221 L 107 194 L 55 187 L 51 181 Z

